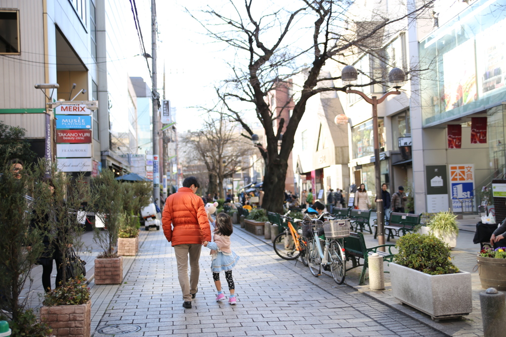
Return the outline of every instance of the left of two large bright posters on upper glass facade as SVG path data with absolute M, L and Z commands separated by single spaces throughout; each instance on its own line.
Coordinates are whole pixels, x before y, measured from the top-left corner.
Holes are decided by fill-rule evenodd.
M 474 39 L 443 55 L 443 71 L 445 111 L 477 99 Z

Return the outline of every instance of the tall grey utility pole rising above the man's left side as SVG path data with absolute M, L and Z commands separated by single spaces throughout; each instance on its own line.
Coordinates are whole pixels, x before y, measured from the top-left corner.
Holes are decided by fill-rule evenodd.
M 151 68 L 152 68 L 152 93 L 153 100 L 153 198 L 160 207 L 160 165 L 158 155 L 158 100 L 160 95 L 157 90 L 156 80 L 156 4 L 151 0 Z

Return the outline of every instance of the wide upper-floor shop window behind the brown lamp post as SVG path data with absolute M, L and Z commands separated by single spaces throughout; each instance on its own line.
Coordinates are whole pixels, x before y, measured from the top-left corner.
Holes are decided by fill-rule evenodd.
M 385 151 L 385 126 L 383 118 L 378 118 L 379 151 Z M 353 158 L 374 155 L 374 134 L 372 119 L 357 125 L 352 130 Z

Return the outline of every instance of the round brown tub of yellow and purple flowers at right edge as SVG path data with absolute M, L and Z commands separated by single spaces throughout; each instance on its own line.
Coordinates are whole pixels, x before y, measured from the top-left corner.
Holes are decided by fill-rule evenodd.
M 477 260 L 482 288 L 506 290 L 506 247 L 484 248 Z

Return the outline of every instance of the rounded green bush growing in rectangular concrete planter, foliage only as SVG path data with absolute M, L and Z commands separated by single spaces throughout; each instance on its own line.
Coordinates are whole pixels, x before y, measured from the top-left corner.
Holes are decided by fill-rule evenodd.
M 458 268 L 450 262 L 450 247 L 434 235 L 411 233 L 403 235 L 395 247 L 398 265 L 430 275 L 454 274 Z

